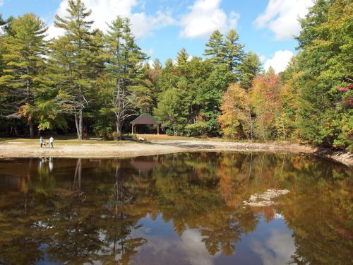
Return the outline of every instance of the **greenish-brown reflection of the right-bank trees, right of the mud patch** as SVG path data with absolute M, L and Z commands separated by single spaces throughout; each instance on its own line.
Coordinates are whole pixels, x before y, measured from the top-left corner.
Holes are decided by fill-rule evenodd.
M 294 230 L 293 264 L 350 264 L 353 260 L 352 170 L 325 160 L 295 158 L 293 192 L 279 211 Z M 350 176 L 349 176 L 350 174 Z

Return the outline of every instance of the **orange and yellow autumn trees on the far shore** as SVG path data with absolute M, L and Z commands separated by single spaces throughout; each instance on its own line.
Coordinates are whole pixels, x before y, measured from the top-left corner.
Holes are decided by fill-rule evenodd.
M 270 69 L 253 79 L 246 90 L 232 83 L 223 96 L 219 122 L 223 134 L 233 139 L 287 139 L 280 77 Z

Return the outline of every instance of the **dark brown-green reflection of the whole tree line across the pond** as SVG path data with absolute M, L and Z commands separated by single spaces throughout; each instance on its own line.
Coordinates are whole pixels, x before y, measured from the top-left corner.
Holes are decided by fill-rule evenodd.
M 21 195 L 6 193 L 10 205 L 1 204 L 0 194 L 0 261 L 35 264 L 45 249 L 48 259 L 61 263 L 128 264 L 146 243 L 134 236 L 138 221 L 160 213 L 177 235 L 198 229 L 210 254 L 230 255 L 241 235 L 256 228 L 259 213 L 268 221 L 273 218 L 274 208 L 241 204 L 268 188 L 291 190 L 276 210 L 294 230 L 294 262 L 344 263 L 349 257 L 352 178 L 345 167 L 265 153 L 184 153 L 153 159 L 146 158 L 151 165 L 160 164 L 144 175 L 131 167 L 131 159 L 65 160 L 50 174 L 38 174 L 32 161 L 24 166 L 25 174 L 13 173 L 25 176 L 26 188 L 18 189 Z

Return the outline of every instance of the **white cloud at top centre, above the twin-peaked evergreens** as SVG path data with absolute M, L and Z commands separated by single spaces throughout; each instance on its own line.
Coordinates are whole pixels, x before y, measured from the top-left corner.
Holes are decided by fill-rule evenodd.
M 224 32 L 237 26 L 239 14 L 232 11 L 229 17 L 220 8 L 221 0 L 196 0 L 189 13 L 181 16 L 181 37 L 206 37 L 214 30 Z

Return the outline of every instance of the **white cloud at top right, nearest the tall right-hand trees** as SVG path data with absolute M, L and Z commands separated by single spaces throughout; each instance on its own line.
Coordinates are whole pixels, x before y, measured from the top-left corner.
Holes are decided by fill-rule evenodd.
M 298 18 L 308 13 L 313 0 L 270 0 L 264 13 L 254 21 L 256 28 L 269 28 L 276 40 L 287 40 L 299 35 Z

